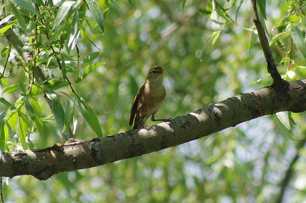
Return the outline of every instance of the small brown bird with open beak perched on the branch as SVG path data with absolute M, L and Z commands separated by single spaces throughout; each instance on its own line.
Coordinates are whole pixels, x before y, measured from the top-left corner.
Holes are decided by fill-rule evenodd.
M 164 70 L 160 66 L 152 67 L 145 79 L 145 83 L 138 90 L 130 111 L 129 125 L 133 129 L 142 127 L 145 121 L 151 116 L 152 121 L 169 121 L 169 119 L 155 119 L 154 116 L 161 107 L 166 97 L 166 89 L 163 85 Z M 135 117 L 136 114 L 136 117 Z

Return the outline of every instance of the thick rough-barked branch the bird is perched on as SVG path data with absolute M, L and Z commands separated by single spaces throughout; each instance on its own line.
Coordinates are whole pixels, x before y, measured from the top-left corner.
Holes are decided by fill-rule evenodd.
M 89 141 L 70 139 L 43 150 L 4 153 L 0 176 L 54 174 L 112 163 L 196 140 L 247 120 L 280 111 L 306 110 L 306 80 L 289 82 L 287 92 L 265 87 L 198 109 L 171 122 L 145 126 Z

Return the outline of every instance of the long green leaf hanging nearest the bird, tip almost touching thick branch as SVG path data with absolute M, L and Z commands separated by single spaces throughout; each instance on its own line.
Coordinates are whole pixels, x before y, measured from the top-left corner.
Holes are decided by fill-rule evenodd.
M 85 106 L 80 102 L 80 100 L 78 100 L 78 106 L 80 108 L 83 117 L 86 119 L 90 127 L 94 130 L 94 132 L 96 132 L 97 136 L 103 137 L 98 118 L 95 115 L 93 109 L 88 105 L 88 103 L 83 98 L 81 98 L 81 100 L 86 106 L 85 108 Z

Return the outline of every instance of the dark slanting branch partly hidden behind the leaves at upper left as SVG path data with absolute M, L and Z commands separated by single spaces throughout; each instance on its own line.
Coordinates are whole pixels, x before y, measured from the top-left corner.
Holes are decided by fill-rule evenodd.
M 1 14 L 4 15 L 6 12 L 5 12 L 5 2 L 4 0 L 1 0 L 0 1 L 1 5 L 2 6 L 2 9 L 0 10 Z M 5 15 L 3 16 L 3 18 L 5 17 Z M 5 26 L 6 24 L 4 24 L 3 26 Z M 8 29 L 5 33 L 3 33 L 4 36 L 7 38 L 7 40 L 9 41 L 9 43 L 12 44 L 12 46 L 16 49 L 16 51 L 21 55 L 22 59 L 28 63 L 32 60 L 32 53 L 29 52 L 29 51 L 22 51 L 22 48 L 24 47 L 24 43 L 19 39 L 19 37 L 16 35 L 16 33 L 12 30 L 12 28 Z M 38 67 L 38 66 L 34 66 L 33 67 L 33 70 L 32 70 L 35 74 L 34 74 L 34 77 L 35 77 L 35 80 L 37 83 L 39 83 L 40 80 L 42 81 L 46 81 L 46 77 L 45 75 L 43 74 L 43 72 L 41 71 L 41 69 Z M 52 106 L 52 100 L 49 99 L 47 96 L 46 96 L 46 93 L 45 91 L 43 91 L 43 95 L 44 95 L 44 98 L 45 100 L 47 101 L 49 107 L 51 108 L 51 110 L 53 109 Z M 53 110 L 52 110 L 53 112 Z M 72 138 L 73 137 L 73 134 L 72 134 L 72 130 L 70 128 L 70 125 L 68 125 L 68 133 L 69 133 L 69 138 Z M 60 132 L 62 133 L 62 132 Z M 63 135 L 62 135 L 63 137 Z M 63 137 L 64 138 L 64 137 Z M 65 140 L 65 139 L 64 139 Z

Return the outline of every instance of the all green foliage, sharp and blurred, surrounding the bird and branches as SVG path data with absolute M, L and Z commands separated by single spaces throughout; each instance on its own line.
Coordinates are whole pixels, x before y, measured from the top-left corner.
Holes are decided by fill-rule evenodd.
M 305 78 L 303 3 L 258 2 L 282 77 Z M 152 65 L 167 72 L 167 96 L 157 118 L 183 115 L 271 83 L 247 1 L 32 3 L 7 2 L 0 22 L 5 25 L 0 33 L 13 26 L 23 50 L 33 54 L 23 62 L 7 41 L 1 44 L 1 64 L 9 61 L 1 75 L 2 151 L 62 142 L 59 131 L 70 123 L 79 139 L 130 129 L 130 105 Z M 35 66 L 45 80 L 34 80 Z M 305 139 L 303 118 L 304 113 L 262 117 L 176 148 L 44 182 L 15 177 L 4 184 L 4 196 L 27 202 L 254 202 L 274 201 L 285 184 L 287 200 L 302 201 L 305 153 L 295 140 Z M 284 182 L 288 169 L 295 174 Z M 33 192 L 42 187 L 42 193 Z

